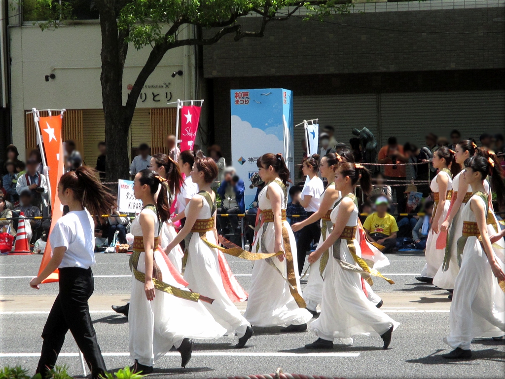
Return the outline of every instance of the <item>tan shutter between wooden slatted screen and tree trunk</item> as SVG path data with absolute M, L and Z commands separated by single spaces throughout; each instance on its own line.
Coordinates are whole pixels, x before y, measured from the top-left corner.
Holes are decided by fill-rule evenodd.
M 82 110 L 82 134 L 84 161 L 90 167 L 96 166 L 98 143 L 105 141 L 105 116 L 103 109 Z

